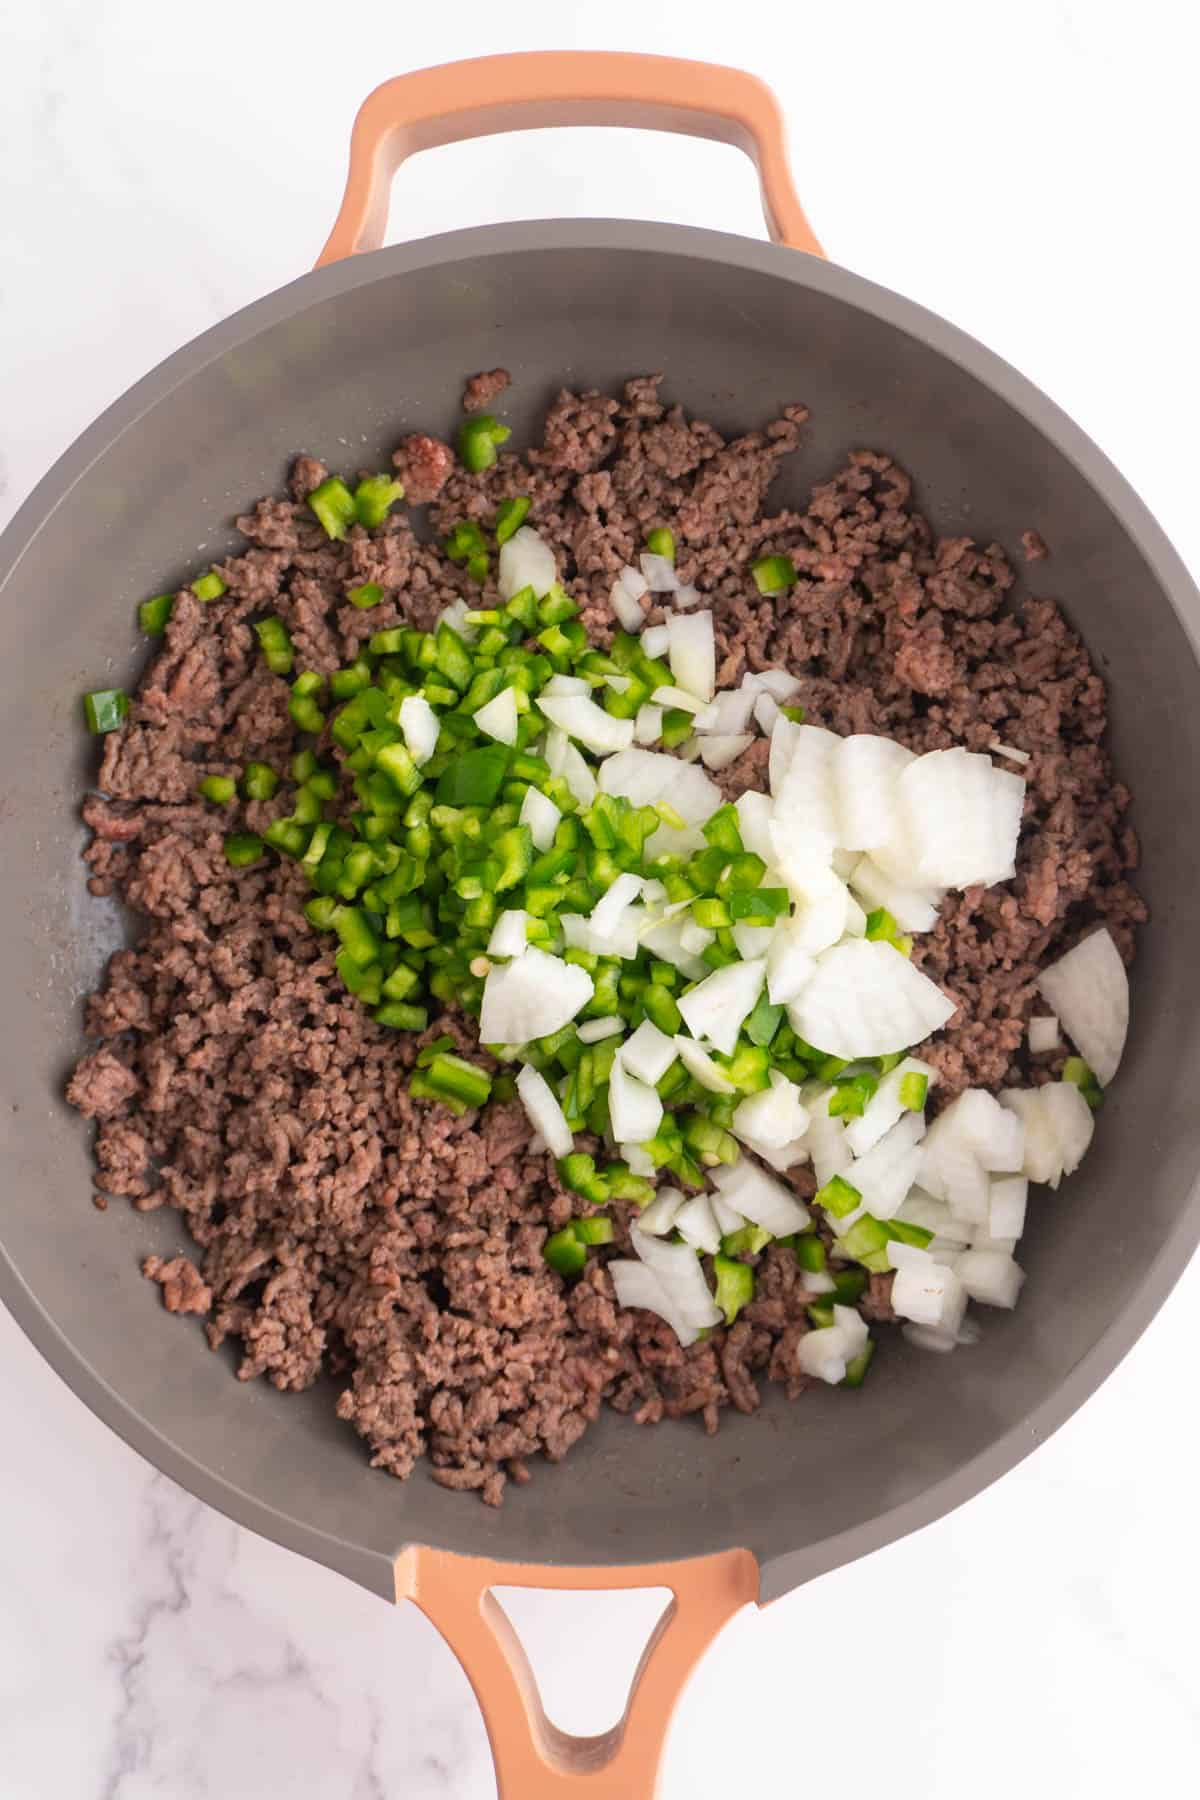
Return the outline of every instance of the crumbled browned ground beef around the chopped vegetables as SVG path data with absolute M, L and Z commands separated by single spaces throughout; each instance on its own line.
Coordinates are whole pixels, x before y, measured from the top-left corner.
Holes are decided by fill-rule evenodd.
M 500 369 L 475 376 L 466 409 L 506 383 Z M 808 716 L 835 731 L 889 733 L 918 752 L 1027 751 L 1015 880 L 948 895 L 916 958 L 959 1001 L 923 1048 L 941 1096 L 1045 1078 L 1047 1058 L 1022 1048 L 1038 967 L 1097 920 L 1128 959 L 1144 918 L 1128 794 L 1103 749 L 1105 688 L 1083 644 L 1052 601 L 1013 605 L 999 545 L 937 540 L 891 457 L 855 452 L 802 511 L 770 513 L 804 409 L 725 441 L 658 389 L 642 376 L 621 398 L 563 392 L 538 448 L 475 475 L 441 439 L 405 437 L 394 463 L 407 499 L 432 502 L 443 535 L 529 495 L 599 641 L 615 569 L 669 526 L 680 576 L 714 610 L 721 684 L 783 666 Z M 291 497 L 237 520 L 250 547 L 221 565 L 228 592 L 203 607 L 176 598 L 130 720 L 104 742 L 101 794 L 83 808 L 90 886 L 122 895 L 142 931 L 88 1001 L 95 1046 L 68 1098 L 97 1121 L 97 1204 L 119 1193 L 182 1215 L 194 1260 L 151 1256 L 144 1273 L 173 1312 L 205 1318 L 214 1348 L 239 1343 L 241 1379 L 295 1390 L 329 1370 L 376 1467 L 405 1476 L 426 1456 L 435 1481 L 495 1505 L 538 1453 L 565 1456 L 604 1402 L 640 1424 L 696 1415 L 714 1431 L 725 1406 L 754 1411 L 763 1381 L 797 1395 L 806 1294 L 795 1256 L 772 1246 L 736 1325 L 684 1350 L 655 1316 L 615 1305 L 610 1253 L 565 1283 L 542 1247 L 581 1202 L 531 1150 L 522 1107 L 459 1120 L 408 1093 L 432 1037 L 480 1055 L 473 1026 L 446 1015 L 417 1039 L 376 1026 L 304 918 L 299 868 L 225 860 L 230 828 L 261 832 L 288 810 L 282 790 L 219 814 L 194 799 L 205 774 L 250 758 L 282 770 L 291 754 L 288 686 L 264 670 L 252 614 L 277 612 L 297 666 L 327 671 L 372 632 L 428 626 L 479 596 L 405 509 L 329 542 L 304 504 L 326 473 L 297 459 Z M 1036 533 L 1024 551 L 1043 553 Z M 795 587 L 757 592 L 763 553 L 792 558 Z M 360 610 L 345 594 L 367 580 L 383 599 Z M 766 745 L 721 785 L 765 787 Z M 810 1168 L 788 1181 L 811 1197 Z M 613 1251 L 628 1251 L 626 1208 L 613 1217 Z M 892 1318 L 889 1276 L 871 1278 L 862 1310 Z

